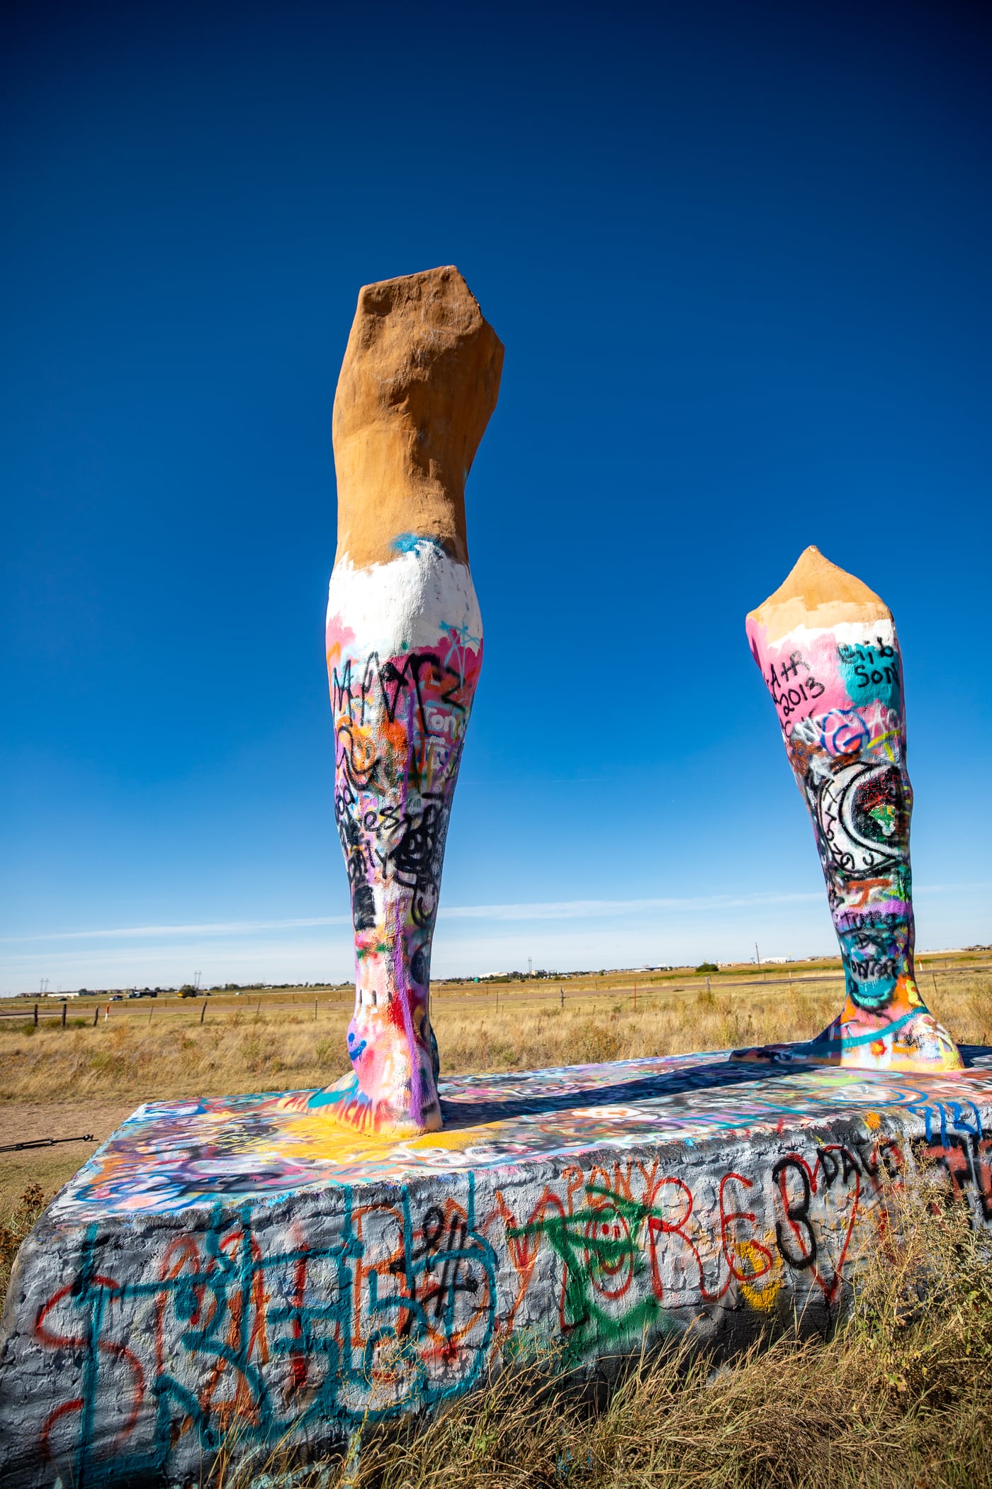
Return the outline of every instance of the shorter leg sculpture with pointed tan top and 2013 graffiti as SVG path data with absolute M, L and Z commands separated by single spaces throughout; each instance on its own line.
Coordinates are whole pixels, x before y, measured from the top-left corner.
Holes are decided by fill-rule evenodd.
M 913 975 L 913 794 L 892 615 L 808 548 L 747 630 L 814 822 L 846 975 L 840 1015 L 791 1048 L 852 1068 L 958 1071 Z

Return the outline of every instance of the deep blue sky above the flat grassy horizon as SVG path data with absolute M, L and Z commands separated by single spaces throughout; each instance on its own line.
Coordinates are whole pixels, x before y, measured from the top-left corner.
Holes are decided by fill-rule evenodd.
M 437 264 L 506 369 L 436 972 L 833 950 L 744 637 L 809 542 L 897 616 L 921 944 L 992 940 L 979 7 L 7 15 L 0 992 L 350 975 L 330 411 Z

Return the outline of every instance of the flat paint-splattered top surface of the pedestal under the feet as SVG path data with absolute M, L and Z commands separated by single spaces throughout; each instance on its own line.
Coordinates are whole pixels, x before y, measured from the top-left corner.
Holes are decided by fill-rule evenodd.
M 775 1132 L 886 1108 L 925 1115 L 992 1099 L 992 1050 L 958 1075 L 879 1075 L 799 1065 L 769 1071 L 727 1051 L 440 1084 L 443 1132 L 403 1142 L 336 1126 L 309 1091 L 140 1106 L 54 1202 L 55 1222 L 275 1200 L 336 1184 L 568 1160 L 596 1151 Z M 940 1117 L 933 1120 L 943 1120 Z

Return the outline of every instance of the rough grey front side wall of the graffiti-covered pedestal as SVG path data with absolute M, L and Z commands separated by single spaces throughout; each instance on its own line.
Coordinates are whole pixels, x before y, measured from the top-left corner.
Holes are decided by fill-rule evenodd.
M 6 1489 L 199 1483 L 219 1446 L 318 1450 L 546 1342 L 602 1370 L 693 1325 L 818 1328 L 876 1249 L 886 1176 L 937 1160 L 992 1222 L 992 1105 L 589 1151 L 171 1215 L 43 1218 L 0 1354 Z

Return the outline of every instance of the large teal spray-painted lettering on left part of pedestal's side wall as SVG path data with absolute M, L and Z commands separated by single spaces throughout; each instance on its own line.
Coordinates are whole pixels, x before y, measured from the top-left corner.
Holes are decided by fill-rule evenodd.
M 210 1458 L 235 1423 L 250 1446 L 425 1410 L 470 1389 L 486 1359 L 495 1257 L 471 1176 L 464 1209 L 428 1206 L 419 1225 L 406 1191 L 360 1206 L 347 1190 L 320 1246 L 265 1254 L 245 1205 L 233 1217 L 216 1206 L 201 1236 L 180 1231 L 153 1278 L 117 1284 L 101 1249 L 89 1225 L 76 1276 L 34 1330 L 83 1356 L 80 1394 L 48 1415 L 39 1443 L 71 1464 L 76 1489 L 162 1474 L 187 1432 Z M 119 1337 L 125 1319 L 143 1349 Z M 109 1394 L 128 1401 L 110 1444 L 95 1431 Z

